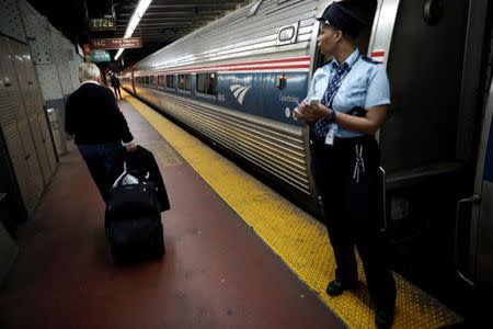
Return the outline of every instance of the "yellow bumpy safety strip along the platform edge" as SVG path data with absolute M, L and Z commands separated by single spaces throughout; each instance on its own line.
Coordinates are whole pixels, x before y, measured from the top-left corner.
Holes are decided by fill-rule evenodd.
M 360 262 L 362 284 L 354 292 L 337 297 L 325 293 L 335 261 L 324 226 L 146 104 L 129 95 L 126 100 L 349 328 L 375 327 Z M 398 299 L 393 328 L 438 328 L 462 321 L 419 287 L 394 275 Z

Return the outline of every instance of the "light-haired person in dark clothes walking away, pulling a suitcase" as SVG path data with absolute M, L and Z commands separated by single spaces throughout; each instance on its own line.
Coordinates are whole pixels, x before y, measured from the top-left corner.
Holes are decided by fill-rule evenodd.
M 67 100 L 65 129 L 73 135 L 101 196 L 105 202 L 113 182 L 123 172 L 122 141 L 135 151 L 127 121 L 108 88 L 101 86 L 101 73 L 92 63 L 79 66 L 82 83 Z

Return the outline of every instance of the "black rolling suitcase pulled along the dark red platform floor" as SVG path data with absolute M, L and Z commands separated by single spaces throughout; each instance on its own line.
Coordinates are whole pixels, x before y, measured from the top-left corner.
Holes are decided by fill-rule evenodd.
M 125 171 L 110 190 L 105 228 L 116 262 L 161 257 L 164 240 L 156 185 L 136 171 Z

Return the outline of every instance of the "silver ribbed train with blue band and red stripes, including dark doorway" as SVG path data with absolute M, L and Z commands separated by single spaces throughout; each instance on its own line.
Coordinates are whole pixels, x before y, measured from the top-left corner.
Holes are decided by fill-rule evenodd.
M 325 60 L 314 18 L 331 2 L 254 1 L 127 68 L 122 84 L 314 209 L 308 128 L 293 111 Z M 377 139 L 395 270 L 445 299 L 462 282 L 491 292 L 493 5 L 346 3 L 367 23 L 359 50 L 391 83 Z

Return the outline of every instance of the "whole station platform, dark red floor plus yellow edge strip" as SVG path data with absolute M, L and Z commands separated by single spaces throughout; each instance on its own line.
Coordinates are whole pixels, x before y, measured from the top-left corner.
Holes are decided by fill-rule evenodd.
M 354 292 L 324 290 L 325 228 L 161 114 L 125 94 L 136 141 L 154 154 L 170 197 L 167 253 L 114 264 L 104 203 L 77 148 L 60 166 L 0 288 L 1 328 L 372 328 L 359 264 Z M 395 274 L 393 328 L 462 318 Z

